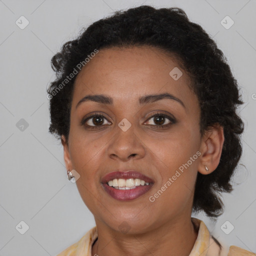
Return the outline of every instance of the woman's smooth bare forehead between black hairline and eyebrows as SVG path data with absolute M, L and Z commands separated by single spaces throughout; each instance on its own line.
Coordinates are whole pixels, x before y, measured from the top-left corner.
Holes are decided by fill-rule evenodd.
M 172 70 L 174 75 L 182 75 L 173 79 Z M 193 94 L 189 83 L 188 75 L 175 58 L 156 47 L 104 48 L 77 75 L 73 103 L 86 94 L 101 93 L 110 95 L 116 103 L 161 92 L 170 92 L 187 101 Z

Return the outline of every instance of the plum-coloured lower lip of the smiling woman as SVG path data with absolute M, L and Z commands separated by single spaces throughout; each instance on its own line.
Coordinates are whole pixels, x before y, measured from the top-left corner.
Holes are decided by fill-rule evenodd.
M 107 185 L 106 183 L 102 184 L 104 190 L 111 195 L 113 198 L 122 201 L 133 200 L 146 193 L 152 187 L 152 183 L 148 185 L 139 185 L 132 189 L 116 189 L 112 186 Z

